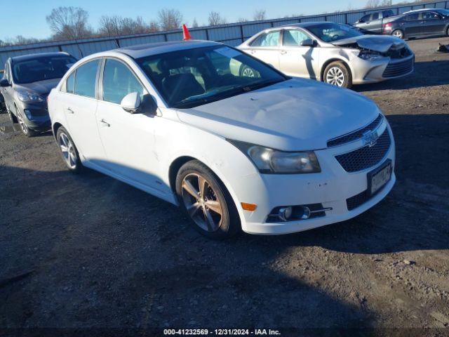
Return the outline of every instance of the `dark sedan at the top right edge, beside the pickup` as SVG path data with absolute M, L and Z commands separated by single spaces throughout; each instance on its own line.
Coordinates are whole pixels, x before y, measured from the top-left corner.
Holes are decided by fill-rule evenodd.
M 384 34 L 401 39 L 449 35 L 449 10 L 432 8 L 406 12 L 385 23 Z

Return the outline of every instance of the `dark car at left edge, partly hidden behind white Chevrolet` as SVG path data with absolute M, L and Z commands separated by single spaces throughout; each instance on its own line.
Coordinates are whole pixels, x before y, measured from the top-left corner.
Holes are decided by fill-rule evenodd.
M 76 59 L 67 53 L 16 56 L 6 61 L 0 91 L 13 123 L 26 136 L 50 129 L 46 98 Z

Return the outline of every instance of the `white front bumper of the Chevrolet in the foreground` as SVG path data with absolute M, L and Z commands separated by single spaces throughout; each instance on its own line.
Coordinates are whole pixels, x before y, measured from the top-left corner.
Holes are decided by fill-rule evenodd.
M 387 121 L 380 126 L 380 132 L 387 130 L 391 138 L 391 145 L 384 157 L 375 165 L 349 173 L 337 161 L 335 156 L 354 151 L 363 147 L 363 140 L 330 147 L 316 151 L 316 156 L 321 164 L 321 173 L 295 174 L 295 175 L 259 175 L 246 176 L 242 181 L 244 189 L 241 190 L 241 201 L 257 204 L 255 211 L 243 211 L 242 229 L 250 234 L 288 234 L 301 232 L 311 228 L 329 225 L 348 220 L 370 209 L 387 196 L 394 186 L 396 176 L 391 174 L 391 180 L 382 187 L 373 197 L 367 199 L 360 206 L 348 210 L 347 199 L 368 190 L 368 173 L 382 166 L 387 159 L 391 159 L 394 170 L 395 145 Z M 246 192 L 248 191 L 248 192 Z M 326 215 L 307 220 L 293 220 L 286 222 L 267 222 L 267 216 L 276 207 L 322 204 Z

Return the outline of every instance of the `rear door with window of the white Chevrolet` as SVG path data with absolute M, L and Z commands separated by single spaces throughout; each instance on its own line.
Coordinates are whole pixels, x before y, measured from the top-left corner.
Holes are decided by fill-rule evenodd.
M 64 111 L 70 136 L 85 159 L 102 165 L 105 159 L 95 112 L 98 105 L 97 78 L 101 60 L 76 68 L 62 84 L 59 106 Z

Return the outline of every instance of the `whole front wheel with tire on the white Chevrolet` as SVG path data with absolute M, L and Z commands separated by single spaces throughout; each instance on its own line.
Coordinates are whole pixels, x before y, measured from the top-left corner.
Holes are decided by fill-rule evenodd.
M 195 230 L 211 239 L 227 239 L 240 232 L 239 213 L 231 195 L 201 161 L 192 160 L 181 166 L 175 186 L 180 206 Z

